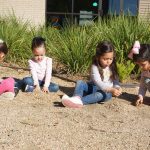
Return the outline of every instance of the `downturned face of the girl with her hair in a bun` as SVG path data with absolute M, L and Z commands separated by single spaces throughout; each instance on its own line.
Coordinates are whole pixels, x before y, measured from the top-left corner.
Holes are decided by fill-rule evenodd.
M 41 46 L 33 49 L 33 55 L 36 62 L 41 62 L 45 56 L 45 47 Z

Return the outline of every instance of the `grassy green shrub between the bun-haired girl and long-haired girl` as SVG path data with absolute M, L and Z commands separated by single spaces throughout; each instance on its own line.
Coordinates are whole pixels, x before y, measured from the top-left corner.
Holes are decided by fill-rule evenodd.
M 65 64 L 68 71 L 77 73 L 89 68 L 96 43 L 86 27 L 71 27 L 56 33 L 55 41 L 49 47 L 52 55 Z

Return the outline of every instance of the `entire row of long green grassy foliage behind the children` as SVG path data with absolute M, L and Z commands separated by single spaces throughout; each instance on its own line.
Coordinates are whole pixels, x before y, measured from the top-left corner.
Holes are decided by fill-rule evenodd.
M 110 17 L 99 20 L 92 26 L 68 26 L 56 30 L 51 26 L 30 27 L 14 16 L 0 18 L 0 38 L 7 42 L 9 62 L 26 66 L 31 58 L 31 41 L 34 36 L 43 36 L 47 41 L 47 55 L 64 64 L 69 72 L 87 72 L 95 47 L 99 41 L 109 40 L 114 44 L 117 66 L 122 80 L 127 78 L 134 64 L 127 55 L 135 40 L 149 43 L 150 24 L 136 17 Z M 126 70 L 128 68 L 128 70 Z

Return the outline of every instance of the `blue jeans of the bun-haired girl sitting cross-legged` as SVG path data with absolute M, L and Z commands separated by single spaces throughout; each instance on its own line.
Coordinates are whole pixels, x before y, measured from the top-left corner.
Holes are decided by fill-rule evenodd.
M 23 82 L 24 82 L 25 87 L 26 87 L 26 85 L 34 86 L 34 81 L 33 81 L 32 77 L 24 78 Z M 39 80 L 39 85 L 40 85 L 40 87 L 43 87 L 44 81 Z M 57 92 L 59 90 L 59 86 L 57 84 L 51 82 L 48 89 L 50 92 Z M 33 88 L 29 92 L 33 92 Z

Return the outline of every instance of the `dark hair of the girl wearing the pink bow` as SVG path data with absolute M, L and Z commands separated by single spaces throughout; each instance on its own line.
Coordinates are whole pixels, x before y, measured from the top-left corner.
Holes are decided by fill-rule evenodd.
M 133 61 L 149 61 L 150 62 L 150 44 L 140 44 L 139 54 L 133 54 Z

